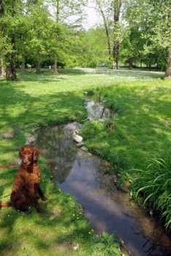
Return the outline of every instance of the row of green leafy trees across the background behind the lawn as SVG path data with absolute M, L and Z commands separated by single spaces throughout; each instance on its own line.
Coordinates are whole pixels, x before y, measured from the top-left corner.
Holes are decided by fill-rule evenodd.
M 85 7 L 102 22 L 86 29 Z M 0 0 L 1 75 L 16 68 L 119 65 L 171 78 L 170 0 Z

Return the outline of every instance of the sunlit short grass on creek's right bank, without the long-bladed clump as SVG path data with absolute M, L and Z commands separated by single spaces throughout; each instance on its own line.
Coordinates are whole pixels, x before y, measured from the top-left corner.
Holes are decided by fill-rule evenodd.
M 88 148 L 128 172 L 170 148 L 170 83 L 155 80 L 104 86 L 99 94 L 118 116 L 85 124 L 82 133 Z M 113 122 L 113 130 L 107 129 L 108 122 Z

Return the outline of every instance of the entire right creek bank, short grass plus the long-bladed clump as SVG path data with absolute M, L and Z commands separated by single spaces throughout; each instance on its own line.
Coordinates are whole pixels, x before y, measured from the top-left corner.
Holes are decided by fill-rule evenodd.
M 130 195 L 140 200 L 141 194 L 148 211 L 157 211 L 170 230 L 171 81 L 114 84 L 97 93 L 117 115 L 86 123 L 82 131 L 86 146 L 109 160 L 118 182 L 131 184 Z

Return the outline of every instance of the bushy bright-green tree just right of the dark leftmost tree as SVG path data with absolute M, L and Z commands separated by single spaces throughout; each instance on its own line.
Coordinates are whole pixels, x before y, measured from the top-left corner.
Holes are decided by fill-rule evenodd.
M 28 7 L 29 30 L 25 43 L 27 59 L 41 72 L 41 64 L 48 58 L 53 20 L 43 1 L 35 1 Z

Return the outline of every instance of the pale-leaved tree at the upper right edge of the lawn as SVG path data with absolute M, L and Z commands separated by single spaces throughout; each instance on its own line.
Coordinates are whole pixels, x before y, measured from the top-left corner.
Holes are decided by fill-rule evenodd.
M 170 50 L 170 0 L 129 0 L 127 1 L 126 20 L 140 31 L 143 40 L 144 59 L 149 64 L 161 65 L 166 69 L 167 54 Z M 145 62 L 146 62 L 145 61 Z M 170 72 L 170 54 L 167 76 Z

